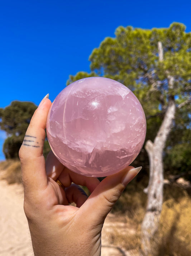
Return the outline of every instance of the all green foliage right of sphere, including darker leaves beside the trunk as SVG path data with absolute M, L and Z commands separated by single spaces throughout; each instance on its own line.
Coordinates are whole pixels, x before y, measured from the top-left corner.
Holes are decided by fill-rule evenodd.
M 168 99 L 175 99 L 177 106 L 191 99 L 191 32 L 186 33 L 185 29 L 184 24 L 176 22 L 168 28 L 151 30 L 119 26 L 114 38 L 106 37 L 92 51 L 89 58 L 92 73 L 78 72 L 70 76 L 68 84 L 84 77 L 104 76 L 128 86 L 140 100 L 147 117 L 146 140 L 154 140 Z M 161 58 L 159 42 L 163 49 Z M 164 156 L 166 168 L 172 163 L 180 171 L 190 165 L 191 142 L 182 140 L 182 134 L 190 130 L 190 104 L 177 111 L 176 120 Z M 147 162 L 145 152 L 142 154 L 144 157 L 139 157 Z

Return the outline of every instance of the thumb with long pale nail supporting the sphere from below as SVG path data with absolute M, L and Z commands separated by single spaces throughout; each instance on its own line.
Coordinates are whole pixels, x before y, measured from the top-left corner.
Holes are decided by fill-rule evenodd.
M 86 223 L 100 225 L 113 208 L 126 185 L 138 174 L 142 167 L 128 166 L 117 174 L 106 177 L 91 193 L 80 207 L 82 216 L 86 215 Z

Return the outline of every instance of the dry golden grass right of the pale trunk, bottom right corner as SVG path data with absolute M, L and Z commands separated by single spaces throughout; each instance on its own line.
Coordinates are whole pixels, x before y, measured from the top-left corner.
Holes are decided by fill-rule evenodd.
M 191 255 L 191 198 L 188 195 L 178 201 L 171 198 L 163 203 L 155 240 L 157 256 Z

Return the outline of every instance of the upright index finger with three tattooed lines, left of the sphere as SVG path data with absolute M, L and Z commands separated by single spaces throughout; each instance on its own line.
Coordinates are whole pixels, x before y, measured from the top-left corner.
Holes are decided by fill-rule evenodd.
M 43 189 L 47 186 L 43 145 L 50 106 L 51 101 L 43 99 L 42 104 L 34 112 L 19 151 L 23 185 L 29 190 Z

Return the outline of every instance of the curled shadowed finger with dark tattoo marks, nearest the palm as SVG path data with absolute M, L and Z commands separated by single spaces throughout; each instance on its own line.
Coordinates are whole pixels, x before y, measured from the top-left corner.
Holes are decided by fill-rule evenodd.
M 68 202 L 76 203 L 78 208 L 87 200 L 87 194 L 85 191 L 76 184 L 72 184 L 69 188 L 66 188 L 65 193 Z

